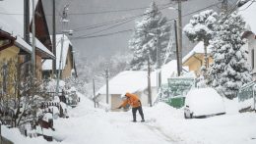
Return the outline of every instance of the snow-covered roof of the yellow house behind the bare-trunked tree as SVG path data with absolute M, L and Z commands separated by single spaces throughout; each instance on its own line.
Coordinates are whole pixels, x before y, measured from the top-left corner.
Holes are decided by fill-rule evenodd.
M 207 53 L 211 53 L 212 50 L 207 48 Z M 197 43 L 197 45 L 182 59 L 182 64 L 185 63 L 190 57 L 192 57 L 194 54 L 204 54 L 204 42 L 200 41 Z

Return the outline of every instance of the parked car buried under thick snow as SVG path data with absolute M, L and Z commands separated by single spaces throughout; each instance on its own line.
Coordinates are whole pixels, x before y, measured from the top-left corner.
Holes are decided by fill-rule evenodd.
M 185 119 L 207 118 L 224 114 L 223 97 L 215 89 L 199 88 L 188 92 L 184 107 Z

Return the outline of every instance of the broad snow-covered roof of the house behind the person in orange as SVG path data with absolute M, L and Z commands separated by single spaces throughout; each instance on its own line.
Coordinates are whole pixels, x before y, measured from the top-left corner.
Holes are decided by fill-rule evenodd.
M 125 92 L 137 92 L 145 89 L 148 85 L 148 72 L 146 71 L 124 71 L 118 73 L 108 83 L 108 93 L 109 94 L 122 94 Z M 154 83 L 156 76 L 152 74 L 152 86 L 156 85 Z M 106 86 L 102 86 L 97 92 L 97 94 L 105 94 Z

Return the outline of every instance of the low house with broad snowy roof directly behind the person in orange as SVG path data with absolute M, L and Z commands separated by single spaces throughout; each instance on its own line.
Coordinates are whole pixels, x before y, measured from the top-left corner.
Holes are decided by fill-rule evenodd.
M 108 104 L 111 109 L 117 108 L 121 103 L 121 95 L 130 92 L 137 94 L 143 106 L 148 106 L 148 72 L 124 71 L 118 73 L 108 82 Z M 152 75 L 152 100 L 157 98 L 156 74 Z M 106 103 L 106 85 L 96 92 L 96 101 L 100 104 Z

